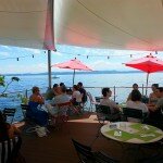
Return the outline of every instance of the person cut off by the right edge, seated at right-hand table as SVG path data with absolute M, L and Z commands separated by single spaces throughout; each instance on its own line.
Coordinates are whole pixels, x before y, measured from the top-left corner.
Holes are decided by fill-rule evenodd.
M 163 87 L 156 88 L 155 95 L 158 102 L 155 105 L 148 105 L 150 114 L 147 123 L 163 129 Z

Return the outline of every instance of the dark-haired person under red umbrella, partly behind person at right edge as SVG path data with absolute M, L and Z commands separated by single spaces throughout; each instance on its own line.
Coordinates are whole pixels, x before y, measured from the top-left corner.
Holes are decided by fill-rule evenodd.
M 155 105 L 158 102 L 158 97 L 156 97 L 156 88 L 159 87 L 159 84 L 153 84 L 152 85 L 152 92 L 149 95 L 149 105 Z

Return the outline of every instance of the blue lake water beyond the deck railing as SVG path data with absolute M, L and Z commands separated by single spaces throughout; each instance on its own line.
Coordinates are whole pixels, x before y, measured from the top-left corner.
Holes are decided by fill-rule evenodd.
M 20 82 L 13 82 L 8 89 L 8 92 L 15 92 L 15 91 L 23 91 L 20 92 L 21 95 L 25 95 L 25 90 L 32 89 L 34 86 L 38 86 L 41 89 L 41 92 L 46 92 L 48 87 L 48 75 L 22 75 L 20 77 Z M 52 78 L 53 84 L 60 84 L 63 82 L 67 87 L 72 87 L 72 78 L 73 75 L 58 75 L 59 78 Z M 128 74 L 76 74 L 75 76 L 75 84 L 78 82 L 83 82 L 86 90 L 91 92 L 93 97 L 101 96 L 101 87 L 111 87 L 111 90 L 114 91 L 113 87 L 121 87 L 115 89 L 115 101 L 116 102 L 124 102 L 128 93 L 130 92 L 131 88 L 124 88 L 124 87 L 131 87 L 134 83 L 137 83 L 140 87 L 146 86 L 146 73 L 128 73 Z M 7 76 L 5 80 L 9 83 L 11 76 Z M 162 73 L 154 73 L 150 74 L 149 77 L 149 86 L 151 84 L 156 83 L 160 86 L 163 86 L 163 75 Z M 87 88 L 87 87 L 100 87 L 100 88 Z M 0 87 L 0 92 L 2 92 L 4 88 Z M 142 92 L 142 89 L 140 88 Z M 151 92 L 151 89 L 148 90 L 148 95 Z M 32 92 L 28 91 L 28 96 Z M 14 93 L 15 95 L 15 93 Z M 10 108 L 17 108 L 18 113 L 17 117 L 22 116 L 21 108 L 20 108 L 20 97 L 10 96 L 10 98 L 0 98 L 0 108 L 3 109 L 5 106 Z M 114 92 L 113 92 L 114 95 Z

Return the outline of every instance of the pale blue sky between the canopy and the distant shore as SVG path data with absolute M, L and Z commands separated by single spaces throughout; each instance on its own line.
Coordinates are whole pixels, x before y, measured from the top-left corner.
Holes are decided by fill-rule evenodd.
M 149 53 L 163 60 L 163 52 L 155 54 L 151 51 L 90 49 L 57 45 L 57 52 L 51 52 L 51 65 L 76 58 L 93 71 L 133 71 L 134 68 L 126 67 L 122 63 Z M 0 74 L 48 72 L 47 57 L 45 50 L 0 46 Z M 52 72 L 63 71 L 70 70 L 52 67 Z

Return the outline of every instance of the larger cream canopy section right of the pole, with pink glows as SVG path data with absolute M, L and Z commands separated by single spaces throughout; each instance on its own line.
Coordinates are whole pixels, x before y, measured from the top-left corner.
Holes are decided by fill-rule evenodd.
M 163 50 L 163 0 L 55 0 L 55 42 Z

